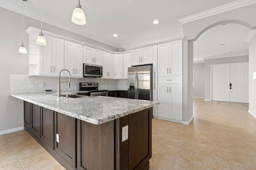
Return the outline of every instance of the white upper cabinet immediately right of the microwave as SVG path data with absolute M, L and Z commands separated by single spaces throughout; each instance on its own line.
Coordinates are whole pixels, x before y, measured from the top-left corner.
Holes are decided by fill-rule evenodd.
M 102 51 L 102 78 L 114 78 L 114 54 Z

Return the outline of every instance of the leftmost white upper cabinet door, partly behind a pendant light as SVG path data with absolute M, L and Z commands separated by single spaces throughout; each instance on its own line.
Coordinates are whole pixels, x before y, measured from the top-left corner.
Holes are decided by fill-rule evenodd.
M 45 35 L 46 46 L 39 46 L 40 48 L 40 75 L 52 75 L 52 37 Z

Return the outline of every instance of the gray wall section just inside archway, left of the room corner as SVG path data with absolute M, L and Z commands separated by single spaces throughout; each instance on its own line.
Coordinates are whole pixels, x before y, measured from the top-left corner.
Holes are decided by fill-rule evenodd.
M 204 63 L 194 64 L 193 96 L 204 98 Z

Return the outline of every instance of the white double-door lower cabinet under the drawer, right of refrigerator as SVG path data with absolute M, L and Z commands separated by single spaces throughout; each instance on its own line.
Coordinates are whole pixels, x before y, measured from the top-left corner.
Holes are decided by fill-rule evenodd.
M 182 121 L 182 84 L 158 84 L 158 117 Z

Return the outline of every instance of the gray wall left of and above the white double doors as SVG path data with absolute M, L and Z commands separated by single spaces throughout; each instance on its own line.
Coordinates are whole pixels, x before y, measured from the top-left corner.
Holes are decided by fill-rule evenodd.
M 238 56 L 238 57 L 226 57 L 220 59 L 208 59 L 204 60 L 204 99 L 211 99 L 211 69 L 210 66 L 213 64 L 229 64 L 229 63 L 243 63 L 248 62 L 249 56 Z

